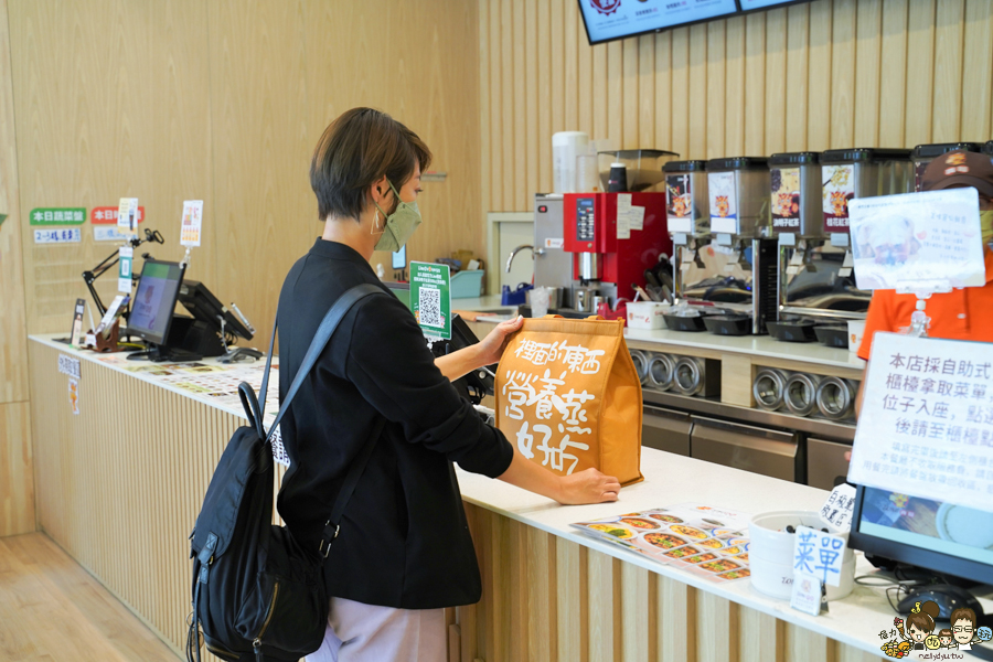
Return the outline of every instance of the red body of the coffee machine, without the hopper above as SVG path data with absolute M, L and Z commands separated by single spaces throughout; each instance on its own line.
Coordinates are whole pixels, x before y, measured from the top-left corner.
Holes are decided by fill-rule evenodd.
M 632 286 L 644 287 L 644 271 L 659 254 L 672 255 L 665 193 L 566 193 L 564 207 L 563 247 L 573 254 L 573 278 L 601 295 L 632 299 Z

